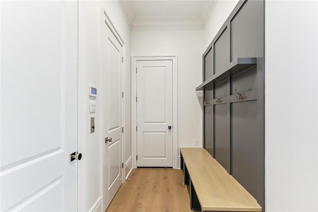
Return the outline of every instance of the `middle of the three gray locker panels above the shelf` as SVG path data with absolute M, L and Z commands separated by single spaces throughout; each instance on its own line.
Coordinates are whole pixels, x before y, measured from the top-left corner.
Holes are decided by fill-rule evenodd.
M 229 30 L 225 28 L 214 44 L 214 74 L 230 63 Z

